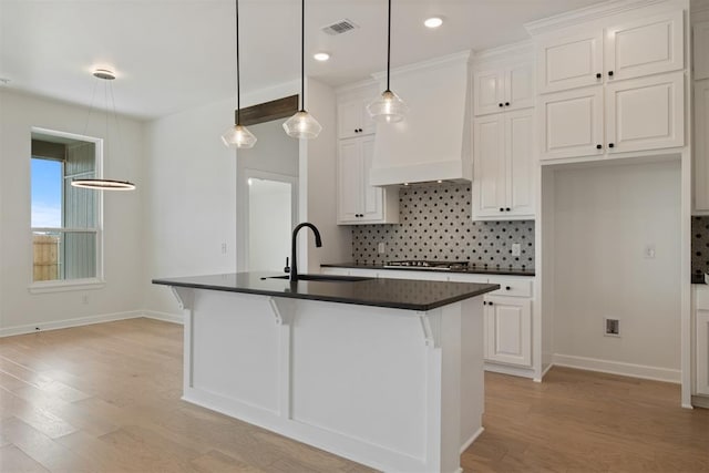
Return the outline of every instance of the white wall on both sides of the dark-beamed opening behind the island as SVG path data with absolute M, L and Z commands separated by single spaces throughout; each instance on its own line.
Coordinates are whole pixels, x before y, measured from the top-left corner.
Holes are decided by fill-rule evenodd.
M 242 103 L 249 106 L 291 95 L 297 93 L 297 85 L 288 83 L 259 91 L 244 97 Z M 323 247 L 315 248 L 311 237 L 300 239 L 309 241 L 307 258 L 299 260 L 299 270 L 304 273 L 318 271 L 320 263 L 349 259 L 351 254 L 351 232 L 336 225 L 335 93 L 327 85 L 308 81 L 307 94 L 308 110 L 323 130 L 317 140 L 298 145 L 299 218 L 312 222 L 320 229 Z M 234 99 L 225 99 L 158 119 L 146 126 L 145 281 L 237 269 L 237 226 L 244 222 L 236 186 L 239 157 L 219 140 L 224 130 L 233 124 L 234 103 Z M 267 145 L 267 135 L 257 134 L 257 147 L 242 151 L 242 156 Z M 227 244 L 226 254 L 222 253 L 223 243 Z M 162 286 L 146 286 L 144 307 L 157 317 L 179 313 L 172 294 Z

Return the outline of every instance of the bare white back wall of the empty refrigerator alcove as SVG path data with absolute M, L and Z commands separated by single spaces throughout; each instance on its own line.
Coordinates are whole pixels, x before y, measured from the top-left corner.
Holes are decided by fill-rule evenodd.
M 555 363 L 679 381 L 679 161 L 556 171 L 554 192 Z

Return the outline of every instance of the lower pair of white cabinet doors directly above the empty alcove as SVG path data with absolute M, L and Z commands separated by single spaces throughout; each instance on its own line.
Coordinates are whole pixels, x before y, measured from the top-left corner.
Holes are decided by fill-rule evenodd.
M 541 95 L 541 160 L 682 146 L 684 97 L 682 72 Z

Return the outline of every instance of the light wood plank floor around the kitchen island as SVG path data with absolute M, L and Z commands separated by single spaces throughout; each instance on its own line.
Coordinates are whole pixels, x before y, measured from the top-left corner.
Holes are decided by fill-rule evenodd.
M 709 411 L 679 388 L 487 373 L 465 471 L 709 472 Z M 0 472 L 366 472 L 179 400 L 182 327 L 134 319 L 0 339 Z

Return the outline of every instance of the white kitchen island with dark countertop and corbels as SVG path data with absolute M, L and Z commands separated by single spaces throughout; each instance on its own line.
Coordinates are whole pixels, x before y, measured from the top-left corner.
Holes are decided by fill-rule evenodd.
M 271 276 L 153 280 L 184 310 L 183 399 L 379 470 L 461 471 L 499 286 Z

